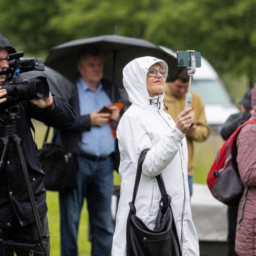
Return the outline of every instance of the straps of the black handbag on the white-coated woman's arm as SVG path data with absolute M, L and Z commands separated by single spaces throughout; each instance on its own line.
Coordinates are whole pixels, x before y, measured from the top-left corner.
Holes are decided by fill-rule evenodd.
M 142 173 L 142 164 L 143 164 L 146 154 L 149 150 L 150 150 L 150 148 L 146 148 L 145 150 L 143 150 L 141 152 L 139 160 L 138 160 L 138 166 L 137 166 L 137 172 L 136 172 L 136 178 L 135 178 L 135 184 L 134 184 L 134 190 L 133 190 L 133 199 L 132 199 L 132 202 L 129 203 L 133 214 L 136 214 L 136 208 L 135 208 L 134 204 L 135 204 L 135 200 L 136 200 L 136 196 L 137 196 L 137 192 L 138 192 L 138 188 L 139 188 L 140 177 L 141 177 L 141 173 Z M 156 178 L 157 178 L 157 183 L 158 183 L 160 193 L 162 196 L 162 202 L 163 202 L 162 207 L 167 208 L 167 207 L 169 207 L 171 197 L 169 195 L 167 195 L 167 193 L 166 193 L 162 174 L 157 175 Z

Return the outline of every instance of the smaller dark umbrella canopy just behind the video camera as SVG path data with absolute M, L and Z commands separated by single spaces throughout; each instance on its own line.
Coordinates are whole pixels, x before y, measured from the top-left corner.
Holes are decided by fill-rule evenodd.
M 29 71 L 19 74 L 19 77 L 24 79 L 30 79 L 36 76 L 44 76 L 47 78 L 49 83 L 49 88 L 51 94 L 68 101 L 69 97 L 74 92 L 75 84 L 72 83 L 65 76 L 61 75 L 59 72 L 45 66 L 45 71 Z

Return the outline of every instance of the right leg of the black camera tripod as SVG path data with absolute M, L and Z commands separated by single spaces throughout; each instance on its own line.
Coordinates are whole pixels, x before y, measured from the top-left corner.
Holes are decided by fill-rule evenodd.
M 36 226 L 37 226 L 37 230 L 38 230 L 38 234 L 39 234 L 39 239 L 41 242 L 41 247 L 44 249 L 45 255 L 48 256 L 48 251 L 47 251 L 47 242 L 46 239 L 49 239 L 49 235 L 45 234 L 44 231 L 42 230 L 42 226 L 41 226 L 41 222 L 40 222 L 40 217 L 37 211 L 37 207 L 36 207 L 36 203 L 35 203 L 35 198 L 33 195 L 33 190 L 29 181 L 29 176 L 28 176 L 28 171 L 27 171 L 27 167 L 25 164 L 25 160 L 23 157 L 23 153 L 22 153 L 22 148 L 20 146 L 20 138 L 17 135 L 13 135 L 13 141 L 15 142 L 17 151 L 18 151 L 18 156 L 19 156 L 19 160 L 20 160 L 20 164 L 22 165 L 22 170 L 23 170 L 23 174 L 24 174 L 24 178 L 25 178 L 25 183 L 28 189 L 28 193 L 29 193 L 29 198 L 30 198 L 30 202 L 31 202 L 31 207 L 33 210 L 33 214 L 35 217 L 35 222 L 36 222 Z

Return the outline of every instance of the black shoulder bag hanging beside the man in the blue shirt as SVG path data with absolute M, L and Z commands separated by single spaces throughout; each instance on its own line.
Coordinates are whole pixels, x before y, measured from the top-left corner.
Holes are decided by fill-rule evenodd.
M 52 191 L 71 190 L 77 183 L 77 156 L 66 148 L 47 142 L 49 130 L 50 127 L 44 145 L 37 151 L 41 169 L 45 172 L 45 188 Z

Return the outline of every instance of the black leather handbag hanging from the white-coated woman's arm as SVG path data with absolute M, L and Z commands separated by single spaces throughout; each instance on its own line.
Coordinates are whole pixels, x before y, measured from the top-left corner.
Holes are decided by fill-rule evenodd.
M 166 193 L 162 175 L 156 176 L 161 192 L 160 209 L 154 230 L 136 216 L 135 199 L 139 187 L 142 163 L 149 149 L 140 154 L 130 212 L 126 224 L 126 255 L 127 256 L 181 256 L 181 248 L 177 229 L 170 206 L 171 198 Z M 147 193 L 147 191 L 145 191 Z

